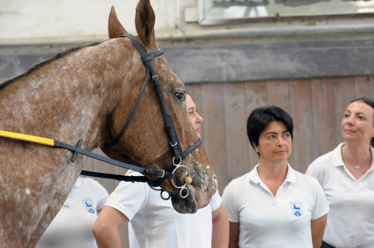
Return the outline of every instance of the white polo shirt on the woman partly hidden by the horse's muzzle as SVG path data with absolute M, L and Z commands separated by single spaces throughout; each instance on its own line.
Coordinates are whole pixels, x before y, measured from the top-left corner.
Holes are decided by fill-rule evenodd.
M 129 170 L 126 175 L 141 174 Z M 170 199 L 162 200 L 159 191 L 147 183 L 121 182 L 105 205 L 130 220 L 130 248 L 210 248 L 212 211 L 221 206 L 221 196 L 217 190 L 205 208 L 195 214 L 180 214 Z

